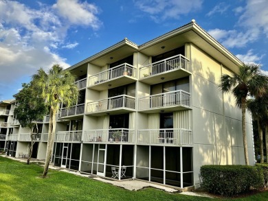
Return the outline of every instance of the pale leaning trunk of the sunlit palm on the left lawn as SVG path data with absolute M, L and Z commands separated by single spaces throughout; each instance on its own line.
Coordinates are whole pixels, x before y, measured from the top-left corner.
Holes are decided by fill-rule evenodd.
M 54 126 L 54 122 L 56 124 L 56 110 L 53 110 L 50 108 L 49 111 L 49 128 L 48 128 L 48 138 L 47 138 L 47 153 L 45 156 L 45 167 L 43 172 L 43 178 L 47 176 L 48 167 L 50 163 L 50 159 L 52 156 L 52 147 L 54 143 L 54 134 L 53 131 L 55 131 L 56 126 Z

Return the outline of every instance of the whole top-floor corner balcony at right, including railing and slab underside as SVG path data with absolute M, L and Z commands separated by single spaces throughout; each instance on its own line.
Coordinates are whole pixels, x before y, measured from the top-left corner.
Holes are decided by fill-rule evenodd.
M 139 69 L 139 80 L 146 84 L 157 84 L 184 78 L 190 74 L 190 60 L 179 54 L 141 67 Z

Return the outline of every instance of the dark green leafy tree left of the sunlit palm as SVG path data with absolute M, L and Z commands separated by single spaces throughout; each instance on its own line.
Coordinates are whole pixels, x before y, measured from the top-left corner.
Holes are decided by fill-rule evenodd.
M 14 115 L 23 128 L 30 128 L 31 143 L 27 154 L 27 164 L 29 165 L 32 156 L 32 147 L 36 141 L 36 134 L 33 133 L 33 129 L 35 126 L 38 128 L 36 122 L 39 119 L 43 119 L 47 110 L 43 99 L 36 96 L 32 84 L 23 83 L 22 86 L 23 88 L 16 95 L 16 102 L 18 102 L 18 104 L 14 109 Z

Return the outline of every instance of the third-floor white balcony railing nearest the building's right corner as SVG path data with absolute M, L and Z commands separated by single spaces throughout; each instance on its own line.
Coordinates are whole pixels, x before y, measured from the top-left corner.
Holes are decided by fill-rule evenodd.
M 170 106 L 190 107 L 190 93 L 182 90 L 159 93 L 148 97 L 139 98 L 139 110 L 164 108 Z

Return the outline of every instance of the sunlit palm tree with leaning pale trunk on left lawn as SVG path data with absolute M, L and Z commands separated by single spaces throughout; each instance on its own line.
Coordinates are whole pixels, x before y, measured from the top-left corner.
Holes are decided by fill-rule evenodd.
M 56 113 L 60 104 L 70 107 L 76 103 L 78 98 L 78 88 L 74 75 L 69 71 L 64 71 L 59 64 L 49 69 L 48 73 L 41 68 L 32 76 L 32 82 L 38 91 L 38 95 L 43 97 L 45 104 L 49 108 L 49 133 L 47 139 L 47 154 L 45 157 L 45 167 L 43 178 L 47 176 L 49 161 L 52 157 L 52 148 L 56 130 Z

